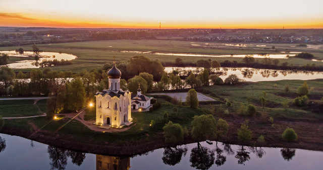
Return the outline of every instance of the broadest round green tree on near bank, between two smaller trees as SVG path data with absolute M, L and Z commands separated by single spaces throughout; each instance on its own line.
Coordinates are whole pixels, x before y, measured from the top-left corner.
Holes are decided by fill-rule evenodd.
M 194 139 L 205 140 L 216 132 L 216 119 L 212 115 L 194 116 L 191 135 Z

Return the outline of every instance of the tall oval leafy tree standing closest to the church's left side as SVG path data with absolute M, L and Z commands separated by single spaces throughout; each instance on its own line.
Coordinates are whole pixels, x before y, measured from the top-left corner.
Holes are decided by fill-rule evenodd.
M 85 106 L 86 93 L 81 78 L 77 77 L 68 84 L 66 108 L 76 111 Z

